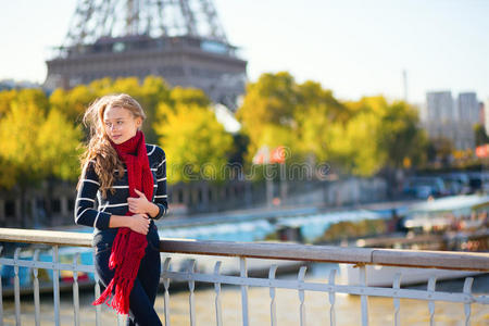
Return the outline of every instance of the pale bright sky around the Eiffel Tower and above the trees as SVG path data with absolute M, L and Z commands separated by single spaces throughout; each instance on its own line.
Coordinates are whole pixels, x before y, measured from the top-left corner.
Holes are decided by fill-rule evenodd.
M 76 0 L 0 2 L 0 79 L 43 82 L 49 48 L 66 34 Z M 215 0 L 248 75 L 289 71 L 341 99 L 383 93 L 424 102 L 428 90 L 489 99 L 487 0 Z

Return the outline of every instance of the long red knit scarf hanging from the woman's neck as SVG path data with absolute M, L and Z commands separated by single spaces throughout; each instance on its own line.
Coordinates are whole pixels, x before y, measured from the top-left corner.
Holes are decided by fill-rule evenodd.
M 135 189 L 145 192 L 146 198 L 153 198 L 153 176 L 149 167 L 146 151 L 145 134 L 141 130 L 136 136 L 116 145 L 111 140 L 118 156 L 126 163 L 129 181 L 129 196 L 139 197 Z M 129 210 L 126 215 L 134 215 Z M 146 235 L 133 231 L 128 227 L 121 227 L 112 244 L 109 268 L 114 269 L 114 278 L 93 305 L 106 303 L 120 314 L 129 312 L 129 294 L 134 280 L 138 274 L 139 264 L 145 256 L 148 241 Z M 112 301 L 110 299 L 112 298 Z

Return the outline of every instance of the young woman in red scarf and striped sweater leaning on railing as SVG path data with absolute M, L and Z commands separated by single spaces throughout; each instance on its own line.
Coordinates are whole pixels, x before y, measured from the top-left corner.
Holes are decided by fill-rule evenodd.
M 93 304 L 128 314 L 127 325 L 162 325 L 153 308 L 161 272 L 153 221 L 167 213 L 166 159 L 145 142 L 145 118 L 141 105 L 124 93 L 88 108 L 90 138 L 74 212 L 76 224 L 95 228 L 95 268 L 105 290 Z

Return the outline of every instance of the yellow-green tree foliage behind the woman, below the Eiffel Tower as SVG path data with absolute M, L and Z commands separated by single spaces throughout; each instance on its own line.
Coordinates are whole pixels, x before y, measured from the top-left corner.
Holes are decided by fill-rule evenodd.
M 0 186 L 29 185 L 48 177 L 75 179 L 80 143 L 88 137 L 82 117 L 95 99 L 118 92 L 129 93 L 143 108 L 147 142 L 162 145 L 168 162 L 193 166 L 189 176 L 211 177 L 212 168 L 222 170 L 227 163 L 234 138 L 216 121 L 202 90 L 170 88 L 154 76 L 102 78 L 70 90 L 55 89 L 49 98 L 40 89 L 0 92 Z M 168 175 L 170 183 L 178 180 L 188 179 L 180 172 Z

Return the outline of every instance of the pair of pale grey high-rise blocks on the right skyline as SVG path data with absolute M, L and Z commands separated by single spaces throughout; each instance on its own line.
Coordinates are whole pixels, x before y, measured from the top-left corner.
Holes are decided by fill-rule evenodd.
M 462 92 L 453 100 L 451 91 L 426 93 L 422 122 L 429 138 L 450 139 L 459 150 L 475 148 L 474 125 L 480 123 L 475 92 Z

